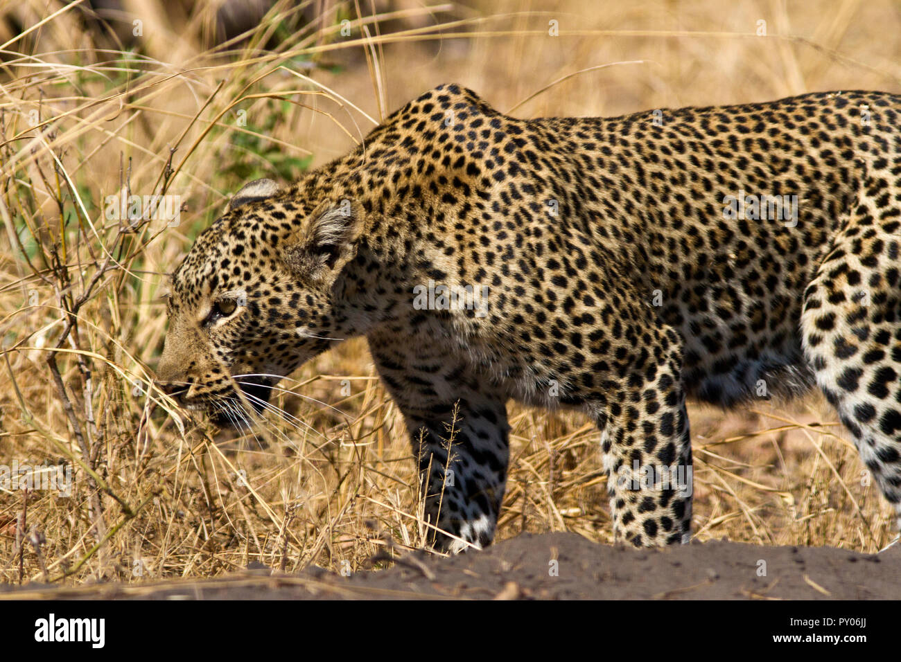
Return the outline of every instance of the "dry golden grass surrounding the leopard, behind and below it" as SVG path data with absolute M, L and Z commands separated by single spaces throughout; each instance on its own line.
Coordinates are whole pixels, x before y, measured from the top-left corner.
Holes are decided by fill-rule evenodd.
M 206 5 L 179 21 L 161 0 L 124 5 L 123 33 L 138 19 L 143 35 L 117 46 L 78 7 L 0 2 L 26 28 L 0 23 L 0 464 L 74 467 L 68 497 L 0 492 L 2 581 L 214 576 L 251 561 L 355 570 L 387 538 L 423 540 L 402 422 L 362 341 L 283 383 L 277 404 L 296 422 L 255 434 L 216 431 L 149 386 L 164 274 L 242 181 L 332 159 L 449 80 L 521 116 L 901 90 L 891 0 L 282 2 L 218 48 Z M 627 60 L 641 62 L 596 68 Z M 105 196 L 123 186 L 180 195 L 182 222 L 108 220 Z M 699 540 L 870 552 L 890 540 L 887 505 L 819 401 L 692 416 Z M 610 542 L 596 432 L 517 405 L 511 421 L 498 538 Z

